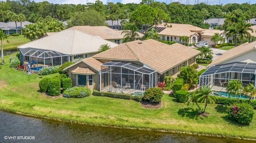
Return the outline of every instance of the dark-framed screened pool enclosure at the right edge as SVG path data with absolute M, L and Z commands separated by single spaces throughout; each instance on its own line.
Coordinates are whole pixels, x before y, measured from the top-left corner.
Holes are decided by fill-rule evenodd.
M 212 91 L 226 92 L 226 85 L 230 80 L 240 80 L 243 86 L 254 84 L 256 63 L 234 62 L 212 66 L 199 77 L 199 88 L 210 86 Z

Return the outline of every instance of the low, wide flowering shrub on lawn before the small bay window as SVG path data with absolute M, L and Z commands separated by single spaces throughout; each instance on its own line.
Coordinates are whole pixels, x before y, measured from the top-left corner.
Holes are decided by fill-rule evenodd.
M 74 86 L 72 88 L 68 88 L 63 92 L 63 97 L 67 98 L 83 98 L 86 96 L 90 96 L 91 90 L 85 87 L 77 87 Z

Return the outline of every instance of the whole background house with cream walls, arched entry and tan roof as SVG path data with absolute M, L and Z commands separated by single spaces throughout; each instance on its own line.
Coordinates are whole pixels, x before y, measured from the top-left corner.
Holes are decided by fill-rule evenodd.
M 200 27 L 196 27 L 190 24 L 165 24 L 162 23 L 157 25 L 157 27 L 153 26 L 157 33 L 160 35 L 160 40 L 166 41 L 176 41 L 178 43 L 182 43 L 180 37 L 188 36 L 188 43 L 197 43 L 201 41 L 201 35 L 205 29 Z

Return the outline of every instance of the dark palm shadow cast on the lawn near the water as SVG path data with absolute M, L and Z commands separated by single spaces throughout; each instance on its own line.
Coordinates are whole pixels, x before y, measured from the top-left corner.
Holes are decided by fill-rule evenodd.
M 187 117 L 189 119 L 198 119 L 198 117 L 200 119 L 204 119 L 202 118 L 201 116 L 199 116 L 199 112 L 198 112 L 198 109 L 196 108 L 193 109 L 193 108 L 182 108 L 178 111 L 178 115 L 180 115 L 181 117 Z

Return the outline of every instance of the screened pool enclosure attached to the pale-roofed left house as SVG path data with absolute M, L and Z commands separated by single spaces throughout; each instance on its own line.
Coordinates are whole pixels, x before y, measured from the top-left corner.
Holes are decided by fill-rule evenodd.
M 20 61 L 33 63 L 34 60 L 38 67 L 38 63 L 45 66 L 62 65 L 64 62 L 70 61 L 70 55 L 63 54 L 53 50 L 37 49 L 37 48 L 20 48 Z

